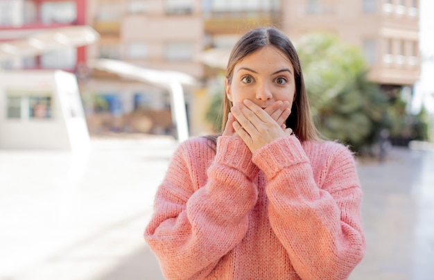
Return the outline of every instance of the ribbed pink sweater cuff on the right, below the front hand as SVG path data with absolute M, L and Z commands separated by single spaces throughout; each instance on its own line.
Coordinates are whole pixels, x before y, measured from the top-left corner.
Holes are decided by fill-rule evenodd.
M 282 168 L 309 162 L 309 158 L 297 137 L 291 135 L 276 139 L 257 150 L 252 156 L 252 162 L 263 170 L 267 180 L 270 180 Z

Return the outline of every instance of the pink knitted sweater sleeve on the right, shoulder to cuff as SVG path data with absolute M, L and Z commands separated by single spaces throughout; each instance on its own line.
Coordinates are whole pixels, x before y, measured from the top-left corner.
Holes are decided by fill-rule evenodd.
M 329 145 L 320 186 L 300 141 L 282 137 L 253 156 L 266 175 L 270 225 L 302 279 L 347 279 L 365 254 L 361 186 L 351 152 Z

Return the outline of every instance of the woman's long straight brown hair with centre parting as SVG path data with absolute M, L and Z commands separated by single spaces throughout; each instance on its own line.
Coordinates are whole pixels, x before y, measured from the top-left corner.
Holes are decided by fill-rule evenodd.
M 246 56 L 259 51 L 265 46 L 274 46 L 284 53 L 294 67 L 295 79 L 295 98 L 291 108 L 291 114 L 286 119 L 286 127 L 291 128 L 300 141 L 321 141 L 320 134 L 313 124 L 309 100 L 304 86 L 304 79 L 300 59 L 298 58 L 295 47 L 289 38 L 277 28 L 263 27 L 250 30 L 235 44 L 229 56 L 226 68 L 226 78 L 228 85 L 232 82 L 234 67 Z M 222 132 L 227 122 L 227 114 L 232 107 L 232 102 L 225 96 L 223 97 L 223 118 Z M 220 135 L 220 134 L 219 134 Z M 218 135 L 207 137 L 211 141 L 216 140 Z

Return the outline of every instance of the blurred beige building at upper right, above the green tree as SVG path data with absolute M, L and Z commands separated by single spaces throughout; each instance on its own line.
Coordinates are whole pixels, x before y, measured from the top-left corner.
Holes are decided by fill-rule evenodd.
M 281 1 L 282 28 L 292 37 L 335 33 L 360 47 L 369 78 L 383 89 L 413 87 L 420 76 L 418 0 Z

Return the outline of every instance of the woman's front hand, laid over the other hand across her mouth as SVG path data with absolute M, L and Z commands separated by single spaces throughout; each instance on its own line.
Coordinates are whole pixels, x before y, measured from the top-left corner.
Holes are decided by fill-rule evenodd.
M 282 129 L 272 116 L 250 100 L 235 103 L 231 111 L 236 119 L 232 123 L 235 132 L 252 152 L 293 132 L 290 128 Z

